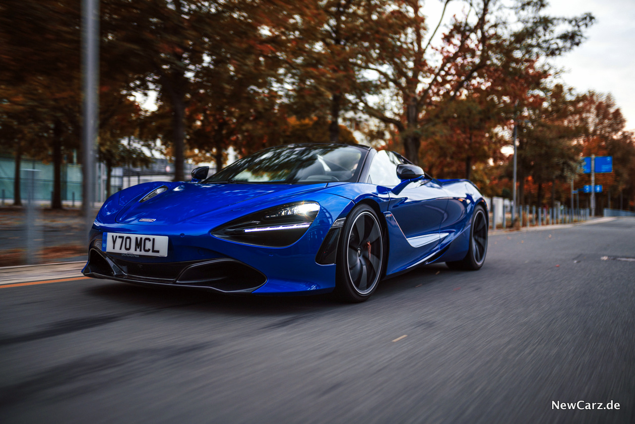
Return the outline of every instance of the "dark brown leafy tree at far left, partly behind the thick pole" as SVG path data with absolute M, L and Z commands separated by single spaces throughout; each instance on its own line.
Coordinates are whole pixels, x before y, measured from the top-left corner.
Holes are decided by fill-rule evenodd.
M 36 157 L 46 160 L 51 152 L 53 209 L 62 207 L 64 151 L 79 147 L 81 133 L 79 15 L 79 3 L 70 0 L 8 0 L 0 6 L 0 56 L 10 64 L 0 71 L 0 86 L 11 86 L 19 93 L 12 97 L 15 106 L 37 114 L 48 128 L 43 139 L 48 146 Z M 105 127 L 129 101 L 136 75 L 111 37 L 106 35 L 101 44 L 99 120 Z

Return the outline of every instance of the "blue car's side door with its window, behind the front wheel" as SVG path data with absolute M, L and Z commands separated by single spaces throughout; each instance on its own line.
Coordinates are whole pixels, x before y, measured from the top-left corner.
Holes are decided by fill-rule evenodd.
M 439 227 L 448 198 L 432 179 L 399 180 L 397 165 L 400 163 L 404 160 L 398 154 L 379 151 L 368 172 L 369 182 L 391 189 L 389 212 L 410 246 L 417 250 L 417 256 L 424 257 L 439 245 Z

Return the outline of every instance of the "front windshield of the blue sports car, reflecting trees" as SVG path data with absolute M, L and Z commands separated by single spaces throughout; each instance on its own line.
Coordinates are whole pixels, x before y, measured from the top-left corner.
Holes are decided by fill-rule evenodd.
M 311 184 L 357 181 L 366 153 L 361 147 L 346 145 L 272 147 L 232 163 L 211 175 L 204 183 Z

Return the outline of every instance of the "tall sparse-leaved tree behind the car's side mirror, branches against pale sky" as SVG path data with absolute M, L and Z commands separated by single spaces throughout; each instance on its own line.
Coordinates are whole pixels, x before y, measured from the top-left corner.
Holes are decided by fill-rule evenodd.
M 434 133 L 443 116 L 435 111 L 465 98 L 470 86 L 490 85 L 492 72 L 513 72 L 540 55 L 570 50 L 580 44 L 593 21 L 591 15 L 546 16 L 547 4 L 538 0 L 514 1 L 511 6 L 498 0 L 466 1 L 464 11 L 451 19 L 441 45 L 434 46 L 449 3 L 445 1 L 441 16 L 429 26 L 420 1 L 397 1 L 384 20 L 403 30 L 378 39 L 367 65 L 377 74 L 378 85 L 398 101 L 380 105 L 366 99 L 364 111 L 396 127 L 404 153 L 415 162 L 422 138 Z M 510 64 L 514 66 L 505 67 Z

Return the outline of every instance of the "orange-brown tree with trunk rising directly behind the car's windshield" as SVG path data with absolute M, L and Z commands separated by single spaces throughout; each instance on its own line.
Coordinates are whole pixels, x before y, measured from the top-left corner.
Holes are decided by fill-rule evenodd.
M 330 142 L 340 142 L 342 114 L 355 109 L 355 93 L 368 93 L 364 77 L 370 40 L 385 32 L 377 17 L 384 0 L 321 0 L 302 3 L 288 24 L 285 71 L 298 119 L 328 118 Z

